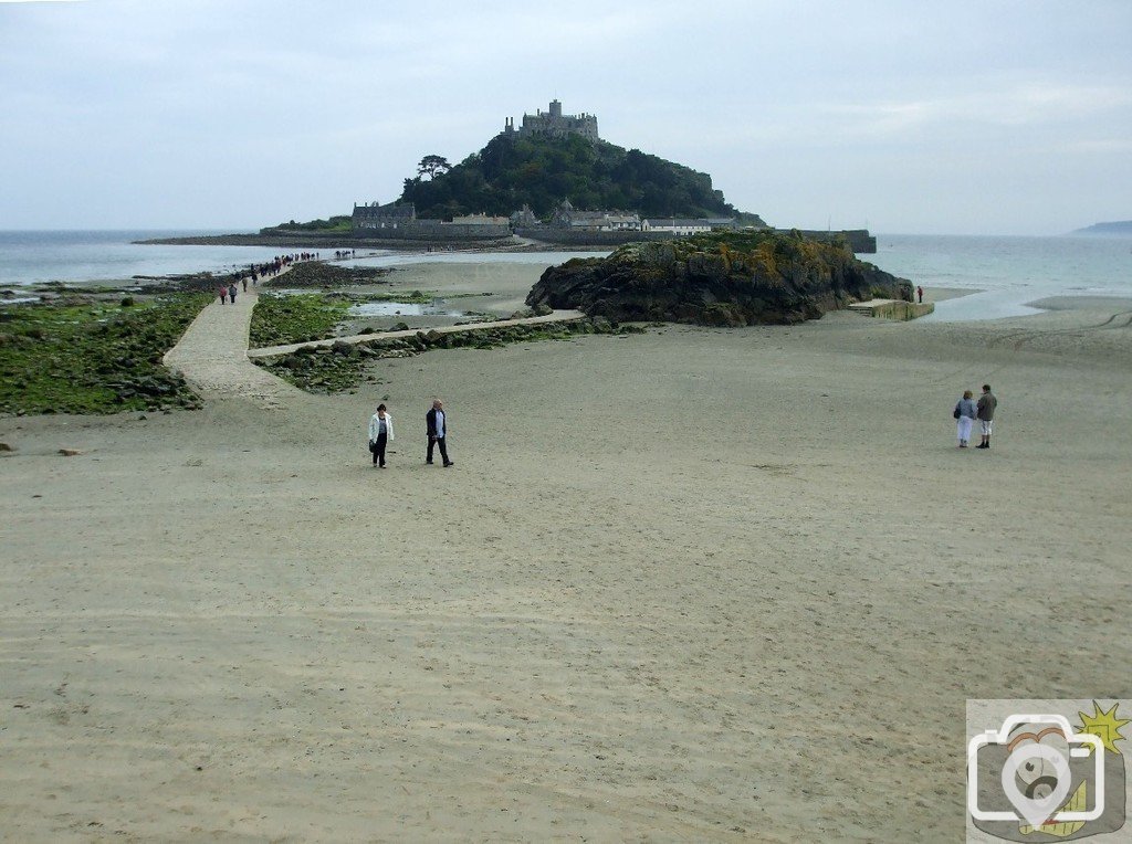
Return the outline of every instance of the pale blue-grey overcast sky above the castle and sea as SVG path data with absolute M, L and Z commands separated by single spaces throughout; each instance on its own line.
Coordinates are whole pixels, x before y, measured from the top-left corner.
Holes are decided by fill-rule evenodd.
M 779 226 L 1132 218 L 1132 0 L 0 0 L 0 229 L 395 199 L 558 97 Z

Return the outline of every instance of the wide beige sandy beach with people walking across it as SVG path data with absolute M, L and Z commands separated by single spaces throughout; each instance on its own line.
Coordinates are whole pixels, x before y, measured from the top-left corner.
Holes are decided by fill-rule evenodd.
M 505 315 L 539 269 L 393 283 Z M 0 419 L 6 835 L 962 839 L 968 698 L 1132 696 L 1132 302 L 1056 305 Z

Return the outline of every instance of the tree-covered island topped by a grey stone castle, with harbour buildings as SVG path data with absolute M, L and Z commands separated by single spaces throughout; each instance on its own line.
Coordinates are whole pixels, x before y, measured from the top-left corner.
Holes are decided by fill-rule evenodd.
M 507 118 L 480 150 L 449 163 L 424 155 L 417 175 L 392 201 L 354 203 L 351 214 L 260 229 L 258 234 L 172 238 L 145 243 L 278 246 L 320 250 L 606 249 L 667 242 L 707 231 L 765 230 L 753 212 L 732 206 L 709 173 L 602 139 L 593 114 L 549 111 Z M 806 232 L 844 238 L 856 252 L 875 252 L 866 230 Z

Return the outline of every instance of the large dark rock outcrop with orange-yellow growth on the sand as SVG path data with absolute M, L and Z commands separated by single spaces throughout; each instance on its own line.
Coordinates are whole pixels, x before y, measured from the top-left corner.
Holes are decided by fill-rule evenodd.
M 911 301 L 912 285 L 858 260 L 847 243 L 797 232 L 713 232 L 550 267 L 526 304 L 616 321 L 745 326 L 817 319 L 876 298 Z

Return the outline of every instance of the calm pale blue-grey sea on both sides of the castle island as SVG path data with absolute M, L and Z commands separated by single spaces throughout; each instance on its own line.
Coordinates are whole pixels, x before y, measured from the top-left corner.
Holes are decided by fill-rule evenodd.
M 148 238 L 218 232 L 3 232 L 0 288 L 50 281 L 127 281 L 136 275 L 231 272 L 292 249 L 267 247 L 140 246 Z M 324 255 L 327 250 L 323 250 Z M 358 264 L 396 266 L 424 261 L 558 264 L 575 252 L 405 253 L 359 250 Z M 584 255 L 594 255 L 593 252 Z M 363 257 L 365 256 L 365 257 Z M 981 293 L 941 302 L 925 319 L 996 319 L 1035 312 L 1026 305 L 1054 295 L 1132 298 L 1132 239 L 977 238 L 877 235 L 877 253 L 861 256 L 924 287 Z

